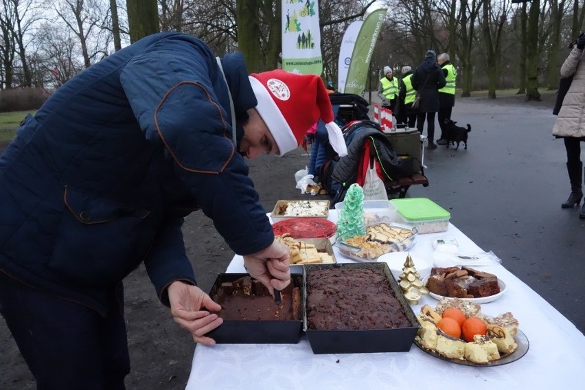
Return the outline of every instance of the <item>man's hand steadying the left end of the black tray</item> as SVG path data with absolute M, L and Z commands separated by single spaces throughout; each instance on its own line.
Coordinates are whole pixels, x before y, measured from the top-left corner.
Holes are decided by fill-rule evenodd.
M 214 339 L 204 335 L 221 325 L 223 320 L 217 314 L 209 314 L 207 310 L 219 312 L 221 306 L 197 286 L 180 281 L 169 285 L 168 295 L 174 321 L 191 332 L 196 343 L 215 344 Z

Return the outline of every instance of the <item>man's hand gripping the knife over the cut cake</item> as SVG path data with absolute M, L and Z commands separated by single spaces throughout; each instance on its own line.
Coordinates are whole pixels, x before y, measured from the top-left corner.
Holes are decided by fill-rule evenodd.
M 274 295 L 275 288 L 283 290 L 290 283 L 289 257 L 288 246 L 273 241 L 263 251 L 244 256 L 244 266 L 251 277 L 260 280 Z

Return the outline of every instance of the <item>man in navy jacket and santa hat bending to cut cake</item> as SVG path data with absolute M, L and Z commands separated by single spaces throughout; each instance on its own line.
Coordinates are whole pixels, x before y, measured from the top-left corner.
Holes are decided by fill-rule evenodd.
M 118 51 L 28 115 L 0 156 L 0 312 L 38 388 L 124 388 L 122 280 L 141 262 L 174 320 L 214 343 L 220 306 L 181 233 L 191 211 L 268 290 L 287 286 L 288 247 L 243 157 L 293 150 L 319 118 L 346 153 L 332 116 L 317 76 L 249 76 L 240 54 L 179 33 Z

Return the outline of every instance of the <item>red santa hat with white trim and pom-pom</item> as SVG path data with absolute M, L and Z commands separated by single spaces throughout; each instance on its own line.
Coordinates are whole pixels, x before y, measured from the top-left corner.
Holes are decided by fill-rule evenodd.
M 345 139 L 334 120 L 329 94 L 319 76 L 283 70 L 252 73 L 249 77 L 258 100 L 256 110 L 264 119 L 282 156 L 303 143 L 303 137 L 321 118 L 333 149 L 347 154 Z

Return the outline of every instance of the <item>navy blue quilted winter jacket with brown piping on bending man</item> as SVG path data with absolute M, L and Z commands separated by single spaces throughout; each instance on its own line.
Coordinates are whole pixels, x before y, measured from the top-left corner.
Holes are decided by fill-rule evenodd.
M 240 255 L 269 246 L 227 85 L 238 122 L 257 101 L 240 54 L 222 68 L 199 39 L 154 34 L 29 115 L 0 156 L 0 271 L 106 315 L 142 261 L 165 304 L 171 282 L 195 284 L 181 233 L 194 209 Z

